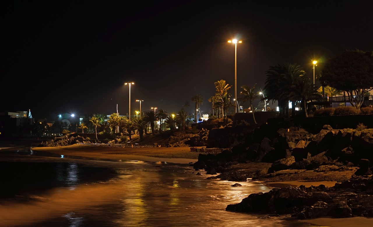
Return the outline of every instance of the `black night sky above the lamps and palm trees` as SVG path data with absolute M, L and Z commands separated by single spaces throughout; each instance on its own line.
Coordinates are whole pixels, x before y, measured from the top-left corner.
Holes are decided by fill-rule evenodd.
M 117 3 L 118 2 L 118 3 Z M 121 2 L 121 3 L 119 3 Z M 126 2 L 126 3 L 124 3 Z M 1 107 L 59 113 L 179 111 L 214 82 L 264 87 L 265 72 L 373 50 L 372 1 L 1 1 Z M 247 104 L 248 105 L 248 104 Z

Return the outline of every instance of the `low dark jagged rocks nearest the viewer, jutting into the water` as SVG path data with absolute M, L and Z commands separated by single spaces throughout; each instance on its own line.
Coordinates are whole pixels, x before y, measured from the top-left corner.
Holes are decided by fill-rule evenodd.
M 373 217 L 372 176 L 356 176 L 333 187 L 285 187 L 249 195 L 227 211 L 292 214 L 298 218 L 323 216 Z

